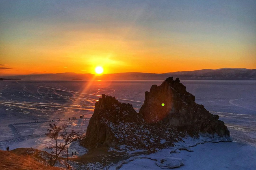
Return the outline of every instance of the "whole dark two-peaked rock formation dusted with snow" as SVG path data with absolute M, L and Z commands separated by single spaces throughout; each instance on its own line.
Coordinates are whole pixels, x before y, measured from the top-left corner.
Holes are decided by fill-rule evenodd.
M 218 115 L 210 114 L 177 78 L 167 78 L 160 86 L 152 85 L 145 92 L 139 113 L 131 104 L 102 95 L 81 144 L 122 149 L 161 149 L 173 146 L 184 136 L 213 134 L 230 136 Z

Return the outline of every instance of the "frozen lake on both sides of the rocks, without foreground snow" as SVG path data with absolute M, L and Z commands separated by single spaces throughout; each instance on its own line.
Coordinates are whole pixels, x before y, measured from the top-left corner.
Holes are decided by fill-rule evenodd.
M 101 94 L 116 96 L 136 111 L 145 91 L 162 81 L 0 81 L 0 149 L 44 150 L 50 120 L 85 132 Z M 256 147 L 256 81 L 182 81 L 195 102 L 220 116 L 234 141 Z M 63 117 L 65 115 L 65 117 Z M 80 115 L 84 115 L 80 119 Z M 76 120 L 72 120 L 76 117 Z M 69 120 L 69 118 L 71 120 Z M 77 143 L 70 151 L 82 154 Z

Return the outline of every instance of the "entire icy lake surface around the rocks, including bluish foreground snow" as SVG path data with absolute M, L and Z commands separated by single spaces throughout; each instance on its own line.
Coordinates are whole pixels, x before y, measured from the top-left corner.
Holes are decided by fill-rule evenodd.
M 129 102 L 139 111 L 145 91 L 149 91 L 151 85 L 161 83 L 162 81 L 1 81 L 0 149 L 4 150 L 9 146 L 10 150 L 18 147 L 44 150 L 53 142 L 44 135 L 49 123 L 66 123 L 70 130 L 85 132 L 95 102 L 101 94 L 116 96 L 120 102 Z M 178 150 L 177 145 L 171 155 L 170 150 L 169 153 L 166 150 L 159 151 L 158 154 L 182 158 L 184 166 L 180 169 L 256 169 L 256 81 L 181 80 L 181 83 L 195 96 L 197 103 L 203 104 L 210 113 L 219 115 L 237 143 L 180 146 L 187 150 Z M 80 119 L 80 115 L 84 117 Z M 72 117 L 76 119 L 72 120 Z M 82 155 L 87 151 L 78 142 L 71 144 L 69 149 L 69 154 L 76 151 L 78 155 Z M 193 152 L 188 152 L 189 150 Z M 148 157 L 134 158 L 124 164 L 122 169 L 131 169 L 129 166 L 135 169 L 159 168 L 156 160 Z

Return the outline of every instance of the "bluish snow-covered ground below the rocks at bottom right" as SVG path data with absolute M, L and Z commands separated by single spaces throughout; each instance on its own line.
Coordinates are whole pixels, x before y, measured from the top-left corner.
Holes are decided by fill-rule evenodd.
M 198 144 L 193 151 L 163 149 L 151 155 L 126 160 L 120 170 L 161 170 L 180 166 L 178 170 L 255 170 L 256 148 L 237 142 Z M 174 151 L 174 152 L 173 152 Z M 161 164 L 162 160 L 162 164 Z M 115 169 L 117 165 L 110 169 Z

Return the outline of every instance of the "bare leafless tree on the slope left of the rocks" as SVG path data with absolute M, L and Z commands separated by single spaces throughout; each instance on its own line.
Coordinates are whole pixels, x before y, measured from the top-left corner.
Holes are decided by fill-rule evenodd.
M 72 142 L 79 140 L 82 138 L 78 134 L 78 132 L 75 132 L 74 130 L 71 130 L 70 133 L 67 132 L 68 125 L 64 124 L 62 126 L 56 126 L 55 124 L 50 124 L 50 128 L 47 130 L 48 133 L 45 135 L 49 138 L 52 138 L 55 142 L 54 145 L 47 147 L 47 149 L 51 149 L 51 153 L 55 155 L 55 159 L 52 162 L 50 162 L 50 166 L 54 166 L 56 164 L 57 159 L 59 158 L 59 155 L 61 153 L 65 153 L 67 151 L 67 168 L 69 168 L 69 162 L 68 162 L 68 145 Z M 62 138 L 64 141 L 61 143 L 60 139 Z

